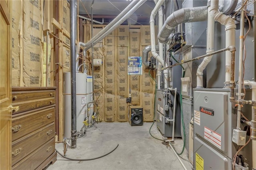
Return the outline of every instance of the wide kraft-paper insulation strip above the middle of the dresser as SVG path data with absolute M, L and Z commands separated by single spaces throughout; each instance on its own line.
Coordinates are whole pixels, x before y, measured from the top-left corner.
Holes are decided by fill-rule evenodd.
M 41 86 L 42 73 L 41 1 L 23 1 L 23 82 Z

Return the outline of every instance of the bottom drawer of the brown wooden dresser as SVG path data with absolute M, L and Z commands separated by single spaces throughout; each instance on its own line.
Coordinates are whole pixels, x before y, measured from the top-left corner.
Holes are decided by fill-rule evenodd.
M 26 158 L 12 166 L 12 170 L 34 170 L 46 160 L 55 150 L 55 140 L 52 138 L 46 144 L 32 152 Z

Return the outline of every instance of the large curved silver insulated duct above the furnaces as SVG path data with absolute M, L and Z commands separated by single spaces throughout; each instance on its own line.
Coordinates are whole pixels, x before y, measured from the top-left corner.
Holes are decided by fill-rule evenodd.
M 207 20 L 208 11 L 207 6 L 200 6 L 194 8 L 182 8 L 173 12 L 164 23 L 164 26 L 158 34 L 158 40 L 160 43 L 169 44 L 172 40 L 170 34 L 174 31 L 174 28 L 178 24 L 186 22 L 200 22 Z

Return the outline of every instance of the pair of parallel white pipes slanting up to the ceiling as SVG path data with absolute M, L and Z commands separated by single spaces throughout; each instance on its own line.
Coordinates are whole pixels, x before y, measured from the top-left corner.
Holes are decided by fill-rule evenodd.
M 120 24 L 122 24 L 127 18 L 129 18 L 146 0 L 134 0 L 132 1 L 112 22 L 110 22 L 105 28 L 103 28 L 94 38 L 87 43 L 82 43 L 85 47 L 84 50 L 88 50 L 92 43 L 98 43 L 105 38 L 110 32 L 115 30 Z

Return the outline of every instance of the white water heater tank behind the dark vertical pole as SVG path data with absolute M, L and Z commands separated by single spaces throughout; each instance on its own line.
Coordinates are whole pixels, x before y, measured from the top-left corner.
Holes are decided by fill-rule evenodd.
M 63 113 L 64 113 L 64 137 L 71 137 L 71 78 L 70 73 L 64 73 L 64 94 L 63 94 Z M 83 136 L 86 118 L 86 74 L 76 73 L 76 130 L 77 137 Z

